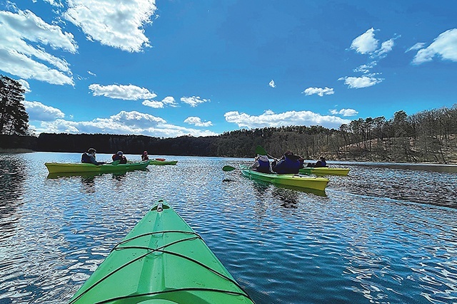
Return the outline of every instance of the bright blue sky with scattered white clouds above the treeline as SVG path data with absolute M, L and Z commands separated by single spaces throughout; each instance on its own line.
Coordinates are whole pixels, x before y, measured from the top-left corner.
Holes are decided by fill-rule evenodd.
M 456 0 L 0 0 L 30 129 L 194 137 L 457 104 Z

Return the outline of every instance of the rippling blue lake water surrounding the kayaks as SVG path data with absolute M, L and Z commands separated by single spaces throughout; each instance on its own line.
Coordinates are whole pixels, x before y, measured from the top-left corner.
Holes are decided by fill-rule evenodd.
M 48 178 L 80 157 L 0 154 L 0 304 L 68 302 L 158 199 L 257 304 L 457 303 L 456 167 L 330 162 L 325 195 L 221 169 L 251 159 Z

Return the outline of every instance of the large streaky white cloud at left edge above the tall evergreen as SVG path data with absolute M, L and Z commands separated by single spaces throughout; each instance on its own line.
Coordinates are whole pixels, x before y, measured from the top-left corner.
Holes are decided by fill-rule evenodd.
M 0 70 L 24 79 L 74 85 L 69 63 L 46 51 L 76 53 L 71 33 L 46 23 L 31 11 L 0 11 Z

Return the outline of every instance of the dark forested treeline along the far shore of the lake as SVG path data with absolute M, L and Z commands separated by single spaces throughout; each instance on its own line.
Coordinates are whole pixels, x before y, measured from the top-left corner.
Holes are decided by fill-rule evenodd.
M 289 126 L 236 130 L 212 137 L 41 133 L 38 138 L 26 138 L 32 150 L 49 152 L 84 152 L 94 147 L 102 153 L 122 150 L 141 154 L 147 150 L 158 155 L 253 157 L 256 145 L 261 145 L 276 157 L 291 150 L 306 159 L 323 155 L 332 160 L 447 164 L 457 163 L 456 135 L 457 105 L 453 105 L 411 116 L 401 110 L 389 120 L 385 117 L 353 120 L 338 130 Z M 0 148 L 9 148 L 9 142 L 19 143 L 0 137 Z

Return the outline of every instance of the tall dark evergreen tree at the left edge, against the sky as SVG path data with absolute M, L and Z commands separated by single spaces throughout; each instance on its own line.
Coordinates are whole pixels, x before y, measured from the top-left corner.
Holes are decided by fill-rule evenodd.
M 0 134 L 26 135 L 29 115 L 23 103 L 24 93 L 21 83 L 0 75 Z

